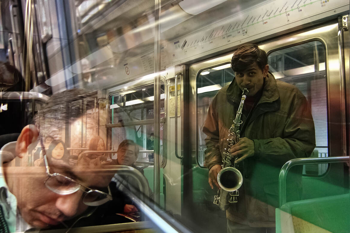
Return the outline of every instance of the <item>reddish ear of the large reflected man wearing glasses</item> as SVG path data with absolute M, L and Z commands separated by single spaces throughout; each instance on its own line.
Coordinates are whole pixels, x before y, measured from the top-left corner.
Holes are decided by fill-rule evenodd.
M 22 129 L 16 143 L 16 155 L 23 158 L 28 153 L 28 146 L 32 143 L 37 144 L 39 133 L 35 125 L 27 125 Z

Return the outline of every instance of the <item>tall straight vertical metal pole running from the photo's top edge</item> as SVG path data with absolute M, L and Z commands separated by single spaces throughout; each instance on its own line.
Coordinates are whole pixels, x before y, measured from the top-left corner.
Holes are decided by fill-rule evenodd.
M 154 202 L 160 203 L 160 24 L 161 0 L 154 0 Z

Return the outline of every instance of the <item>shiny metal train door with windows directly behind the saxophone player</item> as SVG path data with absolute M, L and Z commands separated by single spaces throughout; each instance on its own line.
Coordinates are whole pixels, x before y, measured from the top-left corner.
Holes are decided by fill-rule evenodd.
M 338 48 L 344 49 L 339 46 L 343 43 L 345 54 L 348 54 L 349 38 L 345 37 L 345 43 L 341 40 L 338 43 L 341 27 L 341 23 L 340 26 L 337 22 L 327 23 L 258 44 L 267 52 L 270 71 L 275 78 L 292 83 L 307 97 L 316 131 L 313 157 L 348 155 L 344 82 L 349 79 L 349 74 L 346 72 L 345 79 L 339 72 L 344 65 L 339 64 L 339 54 L 344 51 Z M 208 169 L 204 164 L 206 135 L 202 127 L 211 99 L 235 77 L 230 68 L 231 57 L 232 53 L 189 67 L 189 93 L 193 93 L 189 96 L 189 109 L 196 109 L 189 111 L 189 119 L 196 124 L 189 126 L 192 136 L 190 151 L 194 159 L 189 169 L 192 183 L 184 187 L 184 192 L 192 197 L 186 209 L 190 213 L 188 216 L 195 216 L 193 221 L 204 231 L 225 231 L 226 227 L 225 213 L 212 203 L 216 190 L 211 190 L 208 184 Z M 348 59 L 345 58 L 346 66 Z M 348 168 L 343 163 L 303 166 L 301 191 L 303 200 L 349 194 Z M 318 213 L 314 211 L 312 214 L 316 218 Z M 329 231 L 336 225 L 329 221 L 324 223 L 319 227 Z

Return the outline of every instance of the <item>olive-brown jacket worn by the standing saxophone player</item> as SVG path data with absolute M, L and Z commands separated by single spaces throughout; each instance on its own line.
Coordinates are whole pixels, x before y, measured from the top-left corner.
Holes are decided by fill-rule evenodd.
M 235 119 L 242 91 L 235 79 L 212 100 L 203 126 L 207 134 L 205 165 L 222 164 L 228 130 Z M 254 141 L 254 156 L 238 169 L 243 175 L 238 203 L 226 212 L 228 219 L 253 227 L 273 227 L 278 207 L 278 176 L 290 159 L 308 157 L 315 148 L 315 126 L 305 96 L 293 85 L 268 73 L 256 108 L 242 114 L 240 137 Z

